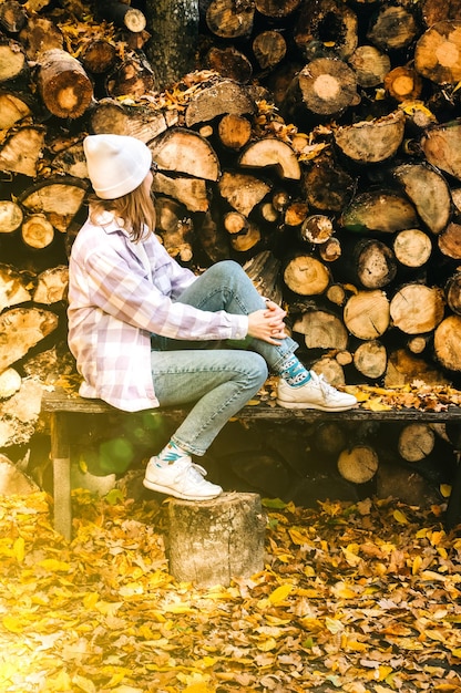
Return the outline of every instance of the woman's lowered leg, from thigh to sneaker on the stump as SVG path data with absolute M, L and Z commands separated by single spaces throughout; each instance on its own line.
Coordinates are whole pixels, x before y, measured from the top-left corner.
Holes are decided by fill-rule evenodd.
M 195 403 L 168 445 L 147 463 L 144 486 L 177 498 L 207 500 L 222 493 L 191 459 L 216 435 L 267 377 L 259 354 L 236 350 L 153 351 L 152 374 L 161 405 Z

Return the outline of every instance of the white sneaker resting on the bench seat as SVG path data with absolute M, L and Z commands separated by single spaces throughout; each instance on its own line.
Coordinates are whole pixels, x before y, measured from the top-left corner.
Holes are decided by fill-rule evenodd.
M 277 404 L 289 410 L 321 410 L 322 412 L 342 412 L 357 404 L 354 395 L 339 392 L 322 375 L 309 371 L 310 380 L 304 385 L 293 387 L 281 377 L 278 381 Z

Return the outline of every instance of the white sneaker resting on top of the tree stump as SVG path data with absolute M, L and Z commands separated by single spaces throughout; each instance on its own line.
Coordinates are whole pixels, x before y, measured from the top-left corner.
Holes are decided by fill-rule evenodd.
M 188 455 L 166 466 L 158 466 L 156 457 L 147 463 L 143 484 L 151 490 L 184 500 L 208 500 L 223 493 L 221 486 L 206 482 L 206 470 L 194 464 Z

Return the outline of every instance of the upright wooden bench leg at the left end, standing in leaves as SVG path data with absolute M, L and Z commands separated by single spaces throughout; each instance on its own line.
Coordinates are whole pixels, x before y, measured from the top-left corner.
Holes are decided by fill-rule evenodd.
M 72 537 L 71 459 L 68 416 L 51 414 L 51 458 L 53 462 L 54 529 L 64 539 Z

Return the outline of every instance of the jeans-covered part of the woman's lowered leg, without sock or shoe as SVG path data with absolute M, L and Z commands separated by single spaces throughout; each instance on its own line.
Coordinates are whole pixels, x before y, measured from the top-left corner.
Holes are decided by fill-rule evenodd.
M 161 406 L 195 403 L 172 439 L 189 454 L 204 455 L 264 384 L 267 365 L 250 351 L 153 351 L 152 376 Z

